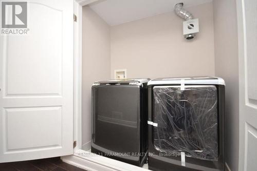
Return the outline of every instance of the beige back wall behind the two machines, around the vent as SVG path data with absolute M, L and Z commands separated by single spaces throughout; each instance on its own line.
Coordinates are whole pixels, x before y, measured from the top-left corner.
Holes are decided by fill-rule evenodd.
M 187 41 L 174 11 L 111 27 L 111 76 L 127 78 L 214 75 L 213 6 L 187 8 L 199 18 L 200 33 Z

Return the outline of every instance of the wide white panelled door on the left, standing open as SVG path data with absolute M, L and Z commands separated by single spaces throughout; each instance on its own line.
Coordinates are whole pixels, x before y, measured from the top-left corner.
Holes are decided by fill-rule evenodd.
M 0 35 L 0 162 L 73 154 L 73 3 L 29 0 L 28 34 Z

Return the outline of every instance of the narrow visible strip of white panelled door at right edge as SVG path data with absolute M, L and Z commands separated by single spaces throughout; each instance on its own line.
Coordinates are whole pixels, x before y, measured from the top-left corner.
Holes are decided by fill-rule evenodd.
M 257 169 L 257 1 L 237 0 L 242 171 Z M 232 26 L 233 27 L 233 26 Z

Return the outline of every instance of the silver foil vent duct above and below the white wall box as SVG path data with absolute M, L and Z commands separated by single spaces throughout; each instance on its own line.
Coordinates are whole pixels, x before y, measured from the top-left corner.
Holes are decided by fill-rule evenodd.
M 183 3 L 178 3 L 175 5 L 175 13 L 183 20 L 186 20 L 186 21 L 194 19 L 193 15 L 190 12 L 183 9 Z M 190 40 L 190 39 L 194 39 L 195 35 L 191 33 L 191 34 L 186 34 L 185 37 L 187 40 Z

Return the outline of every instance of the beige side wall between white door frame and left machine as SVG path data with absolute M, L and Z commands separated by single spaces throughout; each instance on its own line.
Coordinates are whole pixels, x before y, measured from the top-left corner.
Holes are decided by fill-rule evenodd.
M 82 42 L 82 145 L 90 148 L 91 85 L 111 79 L 110 28 L 93 10 L 83 7 Z

